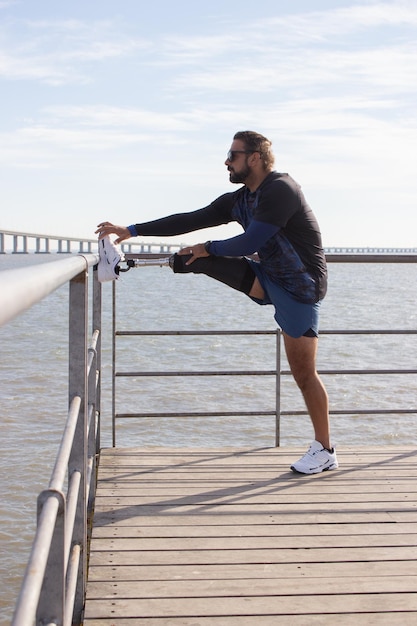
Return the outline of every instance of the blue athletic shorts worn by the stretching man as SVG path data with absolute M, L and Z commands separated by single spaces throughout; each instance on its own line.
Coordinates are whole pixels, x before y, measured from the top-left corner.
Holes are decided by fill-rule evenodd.
M 247 259 L 249 261 L 249 259 Z M 275 320 L 278 326 L 290 337 L 301 337 L 308 330 L 314 335 L 319 334 L 319 302 L 304 304 L 294 300 L 285 289 L 274 283 L 263 271 L 260 263 L 249 261 L 261 286 L 265 292 L 265 298 L 252 298 L 258 304 L 273 304 L 275 307 Z

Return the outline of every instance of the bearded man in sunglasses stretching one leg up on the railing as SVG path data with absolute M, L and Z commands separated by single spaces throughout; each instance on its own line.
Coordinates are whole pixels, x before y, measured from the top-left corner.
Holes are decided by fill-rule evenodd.
M 242 234 L 183 248 L 171 257 L 170 265 L 174 272 L 207 274 L 259 304 L 274 305 L 291 372 L 315 434 L 308 452 L 291 469 L 303 474 L 335 469 L 328 397 L 316 371 L 319 308 L 327 289 L 316 218 L 299 185 L 288 174 L 273 170 L 272 144 L 263 135 L 236 133 L 225 165 L 230 182 L 243 186 L 209 206 L 128 227 L 102 222 L 96 232 L 101 241 L 115 233 L 117 244 L 132 236 L 174 236 L 237 221 Z M 246 258 L 255 253 L 256 261 Z

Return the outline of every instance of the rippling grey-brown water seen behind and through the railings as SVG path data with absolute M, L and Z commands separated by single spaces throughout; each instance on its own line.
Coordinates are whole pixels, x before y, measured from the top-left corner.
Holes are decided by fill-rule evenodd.
M 56 260 L 55 255 L 4 255 L 0 270 Z M 329 267 L 322 307 L 325 329 L 415 329 L 417 265 Z M 8 624 L 35 529 L 36 497 L 49 481 L 67 411 L 68 286 L 0 329 L 0 625 Z M 102 445 L 111 445 L 111 286 L 104 285 Z M 204 276 L 173 275 L 145 267 L 118 285 L 118 328 L 125 330 L 273 330 L 272 307 L 259 307 Z M 333 336 L 320 340 L 318 367 L 414 368 L 417 337 Z M 123 337 L 118 369 L 274 369 L 272 337 Z M 286 365 L 284 364 L 284 368 Z M 415 407 L 416 377 L 325 377 L 334 409 Z M 303 409 L 290 377 L 282 408 Z M 118 411 L 271 410 L 271 378 L 211 377 L 118 379 Z M 335 416 L 333 441 L 343 445 L 415 445 L 415 415 Z M 305 446 L 307 417 L 286 417 L 282 445 Z M 125 420 L 117 444 L 210 447 L 274 445 L 271 417 Z

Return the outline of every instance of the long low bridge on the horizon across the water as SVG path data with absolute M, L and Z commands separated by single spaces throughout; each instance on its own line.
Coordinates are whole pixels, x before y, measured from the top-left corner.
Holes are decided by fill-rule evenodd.
M 129 241 L 123 243 L 121 248 L 124 253 L 137 254 L 173 254 L 186 244 Z M 83 254 L 97 250 L 97 239 L 85 239 L 82 237 L 66 237 L 61 235 L 45 235 L 25 233 L 13 230 L 0 230 L 0 254 Z M 416 248 L 387 248 L 387 247 L 329 247 L 325 248 L 326 254 L 389 254 L 403 255 L 416 254 Z

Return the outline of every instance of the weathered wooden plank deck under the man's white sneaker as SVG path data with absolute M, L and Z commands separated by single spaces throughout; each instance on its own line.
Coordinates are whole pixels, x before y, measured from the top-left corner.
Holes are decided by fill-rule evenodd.
M 417 623 L 417 449 L 105 449 L 84 626 Z

